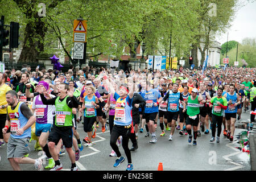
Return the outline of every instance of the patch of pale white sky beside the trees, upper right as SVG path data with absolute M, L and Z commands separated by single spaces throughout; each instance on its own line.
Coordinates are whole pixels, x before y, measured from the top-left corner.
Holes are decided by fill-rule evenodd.
M 247 2 L 247 0 L 241 1 Z M 217 42 L 223 44 L 228 38 L 228 41 L 236 40 L 241 43 L 244 38 L 256 38 L 256 1 L 241 7 L 231 24 L 226 33 L 216 38 Z

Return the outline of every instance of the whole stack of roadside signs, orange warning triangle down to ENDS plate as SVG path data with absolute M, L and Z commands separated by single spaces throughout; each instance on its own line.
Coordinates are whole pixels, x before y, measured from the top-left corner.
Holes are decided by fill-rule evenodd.
M 78 63 L 85 64 L 86 60 L 86 35 L 87 35 L 87 21 L 83 19 L 75 19 L 73 23 L 73 42 L 74 53 L 73 59 L 78 60 Z

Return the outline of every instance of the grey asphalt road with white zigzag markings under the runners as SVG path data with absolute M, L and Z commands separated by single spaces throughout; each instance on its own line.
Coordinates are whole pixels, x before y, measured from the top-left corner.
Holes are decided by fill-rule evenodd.
M 249 122 L 249 118 L 249 113 L 242 113 L 242 119 L 240 122 L 237 121 L 236 125 L 240 127 Z M 250 171 L 250 156 L 236 148 L 240 147 L 236 135 L 243 130 L 245 129 L 236 129 L 233 142 L 221 134 L 220 143 L 209 142 L 211 131 L 208 135 L 202 133 L 201 137 L 197 138 L 197 146 L 193 146 L 192 143 L 188 143 L 188 135 L 180 137 L 178 130 L 175 130 L 172 141 L 168 140 L 170 131 L 166 131 L 165 137 L 159 137 L 161 131 L 158 124 L 157 143 L 149 143 L 150 137 L 144 137 L 146 130 L 144 133 L 139 133 L 139 148 L 137 151 L 131 152 L 134 171 L 156 171 L 160 162 L 163 163 L 164 171 Z M 82 123 L 78 124 L 78 131 L 82 140 L 86 136 L 82 129 Z M 105 133 L 102 133 L 101 129 L 97 130 L 93 146 L 86 147 L 84 145 L 80 159 L 76 162 L 80 171 L 125 171 L 127 159 L 118 168 L 113 167 L 116 158 L 109 156 L 112 151 L 109 140 L 109 130 L 106 130 Z M 29 157 L 36 159 L 42 155 L 42 152 L 34 151 L 34 144 L 35 141 L 32 140 Z M 0 171 L 13 170 L 6 159 L 6 146 L 7 144 L 0 147 Z M 129 146 L 131 147 L 131 142 L 129 142 Z M 119 147 L 119 150 L 125 156 L 122 146 Z M 63 171 L 70 170 L 71 162 L 67 153 L 60 157 L 60 162 L 63 164 Z M 22 170 L 35 171 L 33 164 L 20 164 L 20 166 Z

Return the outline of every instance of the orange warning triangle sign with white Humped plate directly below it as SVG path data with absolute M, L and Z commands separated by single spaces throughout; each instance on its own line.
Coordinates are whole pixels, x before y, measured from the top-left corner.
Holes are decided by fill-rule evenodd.
M 73 42 L 86 42 L 87 21 L 74 20 Z

